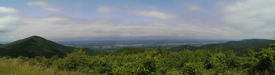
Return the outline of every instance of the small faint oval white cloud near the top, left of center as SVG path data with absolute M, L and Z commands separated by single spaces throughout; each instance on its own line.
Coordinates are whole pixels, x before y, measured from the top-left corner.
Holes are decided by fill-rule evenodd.
M 116 8 L 116 7 L 107 7 L 107 6 L 102 6 L 102 7 L 99 7 L 96 9 L 96 12 L 115 12 L 115 11 L 118 11 L 120 10 L 119 8 Z

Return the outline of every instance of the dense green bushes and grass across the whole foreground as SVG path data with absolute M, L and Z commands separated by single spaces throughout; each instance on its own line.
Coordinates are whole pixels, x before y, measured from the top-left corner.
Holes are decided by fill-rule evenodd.
M 170 52 L 169 48 L 157 46 L 134 54 L 88 56 L 77 47 L 63 58 L 2 57 L 1 74 L 91 74 L 91 75 L 268 75 L 275 71 L 274 44 L 255 53 L 248 50 L 244 56 L 233 51 L 183 50 Z M 12 64 L 15 64 L 12 66 Z M 23 63 L 23 64 L 22 64 Z M 7 69 L 7 65 L 24 69 Z M 2 67 L 3 66 L 3 67 Z M 4 70 L 5 69 L 5 70 Z M 22 70 L 22 71 L 21 71 Z M 12 73 L 15 72 L 15 73 Z M 21 72 L 21 73 L 17 73 Z M 68 72 L 68 73 L 67 73 Z

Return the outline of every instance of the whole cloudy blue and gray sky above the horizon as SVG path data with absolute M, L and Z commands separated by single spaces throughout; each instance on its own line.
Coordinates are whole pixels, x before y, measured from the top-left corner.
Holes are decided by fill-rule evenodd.
M 273 39 L 275 0 L 0 0 L 0 43 Z

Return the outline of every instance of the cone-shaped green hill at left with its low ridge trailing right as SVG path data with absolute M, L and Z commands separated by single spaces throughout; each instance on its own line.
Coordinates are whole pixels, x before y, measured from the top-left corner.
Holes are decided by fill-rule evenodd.
M 1 45 L 0 55 L 8 55 L 11 57 L 45 56 L 47 58 L 50 58 L 53 55 L 58 55 L 59 57 L 63 57 L 66 54 L 71 53 L 74 49 L 75 47 L 63 46 L 50 40 L 46 40 L 43 37 L 31 36 L 12 43 Z M 83 51 L 85 51 L 87 55 L 91 56 L 105 53 L 104 51 L 89 48 L 84 48 Z

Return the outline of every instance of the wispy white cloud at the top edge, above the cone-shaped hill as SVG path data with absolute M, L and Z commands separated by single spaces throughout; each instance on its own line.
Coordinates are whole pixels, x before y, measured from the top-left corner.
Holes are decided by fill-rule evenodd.
M 26 4 L 29 6 L 37 5 L 37 6 L 39 6 L 39 8 L 48 10 L 48 11 L 62 12 L 62 10 L 59 10 L 57 8 L 52 8 L 51 4 L 49 4 L 48 2 L 32 1 L 32 2 L 27 2 Z

